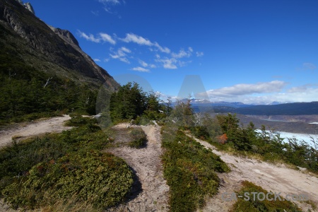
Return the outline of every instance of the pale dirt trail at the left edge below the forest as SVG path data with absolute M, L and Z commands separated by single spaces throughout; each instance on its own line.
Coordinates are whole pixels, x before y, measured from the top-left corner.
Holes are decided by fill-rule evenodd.
M 47 120 L 37 120 L 31 124 L 19 124 L 19 126 L 11 129 L 2 129 L 0 131 L 0 147 L 5 146 L 11 142 L 13 136 L 18 136 L 19 139 L 25 139 L 29 136 L 37 134 L 45 134 L 47 132 L 61 132 L 71 129 L 70 126 L 64 126 L 66 120 L 71 119 L 69 115 L 63 117 L 53 117 Z M 22 125 L 22 126 L 21 126 Z

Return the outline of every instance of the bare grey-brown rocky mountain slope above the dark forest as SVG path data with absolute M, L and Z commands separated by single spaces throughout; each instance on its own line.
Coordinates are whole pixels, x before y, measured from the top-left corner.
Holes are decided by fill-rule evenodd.
M 47 25 L 30 3 L 0 0 L 1 47 L 37 70 L 114 90 L 119 84 L 82 51 L 68 31 Z

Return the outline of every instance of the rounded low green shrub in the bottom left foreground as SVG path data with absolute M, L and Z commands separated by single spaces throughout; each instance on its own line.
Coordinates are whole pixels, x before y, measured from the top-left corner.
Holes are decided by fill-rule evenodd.
M 35 165 L 28 176 L 2 191 L 14 208 L 54 204 L 70 196 L 96 208 L 122 201 L 131 189 L 132 172 L 124 160 L 109 153 L 70 153 L 58 160 Z

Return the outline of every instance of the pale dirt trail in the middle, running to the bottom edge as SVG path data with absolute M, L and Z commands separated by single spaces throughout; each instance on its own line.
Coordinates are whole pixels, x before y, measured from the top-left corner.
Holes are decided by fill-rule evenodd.
M 126 128 L 126 124 L 117 125 Z M 133 169 L 136 182 L 132 196 L 125 204 L 112 208 L 111 211 L 168 211 L 169 187 L 163 178 L 163 166 L 160 155 L 161 135 L 159 126 L 142 126 L 147 135 L 145 148 L 129 148 L 122 146 L 108 152 L 123 158 Z

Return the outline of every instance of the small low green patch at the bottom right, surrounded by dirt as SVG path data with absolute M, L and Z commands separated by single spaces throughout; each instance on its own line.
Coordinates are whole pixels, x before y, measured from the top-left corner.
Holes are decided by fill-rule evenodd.
M 252 182 L 243 181 L 242 188 L 239 192 L 237 192 L 237 196 L 245 196 L 245 192 L 249 193 L 249 200 L 245 201 L 244 198 L 237 198 L 237 201 L 230 209 L 230 212 L 240 212 L 240 211 L 295 211 L 301 212 L 301 209 L 298 208 L 293 202 L 287 201 L 281 197 L 281 201 L 276 199 L 274 201 L 274 195 L 269 195 L 269 199 L 273 199 L 273 201 L 269 201 L 268 199 L 264 199 L 264 201 L 260 201 L 259 199 L 263 199 L 263 196 L 260 195 L 260 198 L 253 198 L 252 192 L 264 193 L 268 194 L 266 190 L 261 187 L 253 184 Z

